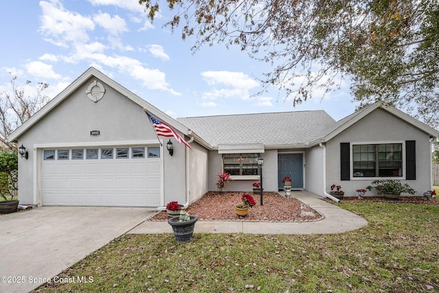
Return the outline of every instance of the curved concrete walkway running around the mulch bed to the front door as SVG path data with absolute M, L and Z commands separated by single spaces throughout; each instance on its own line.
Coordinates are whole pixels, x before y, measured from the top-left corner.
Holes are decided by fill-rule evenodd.
M 281 193 L 282 194 L 282 193 Z M 254 222 L 254 221 L 198 221 L 194 233 L 252 233 L 252 234 L 333 234 L 353 231 L 368 222 L 355 213 L 346 211 L 322 200 L 308 191 L 292 191 L 292 196 L 309 205 L 321 215 L 313 222 Z M 130 234 L 172 233 L 167 221 L 145 221 L 133 228 Z

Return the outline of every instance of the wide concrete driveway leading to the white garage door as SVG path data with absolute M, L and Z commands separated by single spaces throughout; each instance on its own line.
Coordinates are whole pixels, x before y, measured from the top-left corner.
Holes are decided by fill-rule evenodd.
M 44 278 L 53 279 L 141 224 L 155 211 L 152 208 L 40 207 L 1 215 L 0 292 L 29 292 L 44 283 Z

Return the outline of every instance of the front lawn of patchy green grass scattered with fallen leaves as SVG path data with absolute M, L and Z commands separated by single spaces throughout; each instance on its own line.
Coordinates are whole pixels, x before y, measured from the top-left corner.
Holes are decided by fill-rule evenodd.
M 334 235 L 123 235 L 39 292 L 439 292 L 439 206 L 341 203 L 368 226 Z

